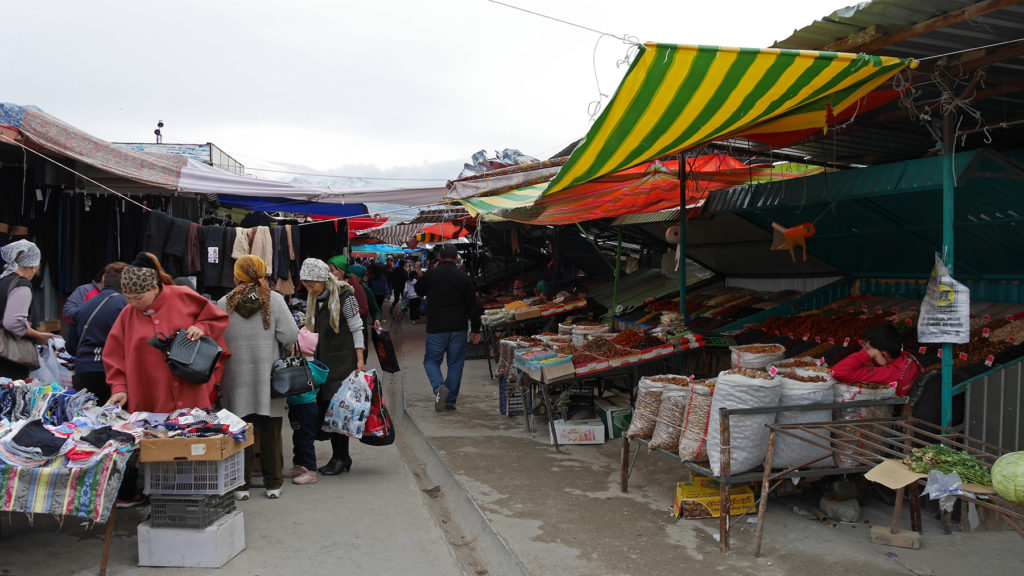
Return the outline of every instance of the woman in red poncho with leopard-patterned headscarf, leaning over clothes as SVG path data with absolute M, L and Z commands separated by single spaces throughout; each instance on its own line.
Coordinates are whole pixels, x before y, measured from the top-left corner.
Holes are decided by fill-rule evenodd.
M 175 286 L 157 257 L 141 252 L 121 273 L 125 306 L 111 328 L 103 347 L 103 366 L 111 384 L 108 404 L 129 412 L 172 412 L 211 407 L 210 393 L 220 381 L 230 351 L 224 343 L 227 315 L 194 290 Z M 167 366 L 163 351 L 148 341 L 159 334 L 185 330 L 188 338 L 213 338 L 224 352 L 208 382 L 179 378 Z

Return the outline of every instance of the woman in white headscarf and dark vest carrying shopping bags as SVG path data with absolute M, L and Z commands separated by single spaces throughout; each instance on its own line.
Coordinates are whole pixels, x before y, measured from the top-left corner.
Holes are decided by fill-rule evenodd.
M 353 370 L 366 368 L 362 321 L 359 320 L 359 306 L 352 287 L 332 276 L 324 260 L 306 258 L 302 262 L 299 280 L 309 292 L 306 329 L 319 335 L 313 358 L 330 369 L 327 381 L 316 397 L 319 429 L 318 424 L 324 421 L 328 404 L 341 387 L 341 382 Z M 348 437 L 341 434 L 327 434 L 327 437 L 331 440 L 331 460 L 317 471 L 326 476 L 348 471 L 352 467 Z

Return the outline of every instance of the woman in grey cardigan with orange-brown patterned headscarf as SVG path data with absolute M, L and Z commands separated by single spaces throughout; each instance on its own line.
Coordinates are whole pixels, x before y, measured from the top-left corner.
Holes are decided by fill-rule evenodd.
M 290 351 L 299 335 L 285 298 L 270 291 L 266 263 L 259 256 L 247 254 L 234 262 L 233 290 L 217 301 L 230 318 L 224 341 L 231 347 L 231 361 L 224 366 L 221 384 L 224 408 L 252 422 L 259 435 L 260 465 L 266 497 L 281 497 L 284 454 L 281 423 L 284 400 L 270 400 L 270 369 Z M 234 492 L 239 500 L 249 499 L 255 446 L 246 448 L 246 483 Z

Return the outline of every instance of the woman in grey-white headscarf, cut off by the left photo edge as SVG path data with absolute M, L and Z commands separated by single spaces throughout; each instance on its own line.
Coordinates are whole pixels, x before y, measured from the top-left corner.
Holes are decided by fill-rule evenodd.
M 42 254 L 39 247 L 28 240 L 17 240 L 0 248 L 4 270 L 0 275 L 0 315 L 7 336 L 29 339 L 45 346 L 53 334 L 40 332 L 32 327 L 32 279 L 39 273 Z M 6 358 L 0 358 L 0 376 L 22 380 L 29 376 L 31 367 Z

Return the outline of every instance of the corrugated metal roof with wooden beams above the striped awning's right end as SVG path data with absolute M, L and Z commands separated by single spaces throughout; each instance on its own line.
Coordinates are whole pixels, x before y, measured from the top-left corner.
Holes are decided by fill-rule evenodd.
M 931 18 L 965 8 L 977 8 L 976 0 L 873 0 L 836 10 L 793 33 L 774 44 L 777 48 L 821 50 L 837 41 L 855 34 L 878 30 L 882 35 L 893 35 L 926 23 Z M 872 29 L 872 27 L 874 27 Z M 963 116 L 957 129 L 974 130 L 980 126 L 994 126 L 1024 119 L 1024 4 L 1010 5 L 976 15 L 925 34 L 909 37 L 877 49 L 871 53 L 922 60 L 916 71 L 898 77 L 899 82 L 912 81 L 913 89 L 905 94 L 902 102 L 892 102 L 870 113 L 862 114 L 846 128 L 831 130 L 822 137 L 814 137 L 797 146 L 775 151 L 787 158 L 808 158 L 818 162 L 839 164 L 880 164 L 926 156 L 936 148 L 936 136 L 926 125 L 941 120 L 941 113 L 930 111 L 933 120 L 911 117 L 907 105 L 913 102 L 919 112 L 926 106 L 935 106 L 941 90 L 933 74 L 942 59 L 935 58 L 950 52 L 964 58 L 963 52 L 978 49 L 964 63 L 953 64 L 944 77 L 953 84 L 954 95 L 959 98 L 958 112 Z M 1016 41 L 1016 43 L 1015 43 Z M 1011 43 L 995 46 L 1000 43 Z M 988 47 L 988 48 L 985 48 Z M 1009 50 L 1009 59 L 991 61 L 984 67 L 972 64 L 977 56 L 988 57 L 992 52 Z M 854 48 L 853 51 L 857 51 Z M 981 81 L 967 90 L 977 70 L 983 70 Z M 894 83 L 898 84 L 898 82 Z M 977 114 L 978 116 L 975 116 Z M 934 126 L 935 134 L 941 131 Z M 989 141 L 986 141 L 988 139 Z M 957 141 L 958 149 L 994 147 L 1015 150 L 1024 147 L 1024 124 L 992 128 L 987 134 L 971 133 L 966 140 Z M 755 150 L 759 150 L 754 146 Z

